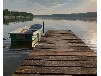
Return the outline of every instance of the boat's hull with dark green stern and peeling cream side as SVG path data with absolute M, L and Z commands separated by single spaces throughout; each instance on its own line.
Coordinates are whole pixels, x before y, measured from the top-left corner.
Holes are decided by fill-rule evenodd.
M 31 34 L 15 33 L 10 34 L 11 46 L 10 49 L 27 48 L 32 49 L 40 40 L 42 29 L 39 29 Z

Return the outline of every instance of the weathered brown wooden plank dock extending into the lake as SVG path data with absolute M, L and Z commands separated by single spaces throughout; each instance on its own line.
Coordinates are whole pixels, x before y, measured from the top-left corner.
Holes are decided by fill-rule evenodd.
M 70 30 L 49 30 L 13 76 L 97 76 L 97 55 Z

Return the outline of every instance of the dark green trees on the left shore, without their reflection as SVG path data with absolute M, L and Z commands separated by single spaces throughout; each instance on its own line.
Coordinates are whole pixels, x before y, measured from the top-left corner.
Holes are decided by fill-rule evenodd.
M 32 13 L 27 13 L 27 12 L 18 12 L 18 11 L 9 11 L 8 9 L 4 9 L 3 10 L 3 17 L 30 17 L 33 18 L 33 14 Z

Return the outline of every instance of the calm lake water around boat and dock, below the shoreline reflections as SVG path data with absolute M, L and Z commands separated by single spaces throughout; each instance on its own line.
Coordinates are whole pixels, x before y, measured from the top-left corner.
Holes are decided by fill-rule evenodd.
M 81 38 L 92 50 L 97 52 L 97 23 L 96 21 L 82 21 L 82 20 L 66 20 L 66 19 L 50 19 L 50 18 L 34 18 L 32 21 L 13 22 L 8 25 L 3 25 L 3 37 L 5 46 L 9 46 L 9 32 L 16 30 L 23 26 L 32 24 L 42 24 L 44 21 L 45 32 L 47 30 L 71 30 L 79 38 Z M 22 63 L 24 58 L 30 51 L 9 51 L 4 48 L 4 76 L 11 76 L 17 67 Z

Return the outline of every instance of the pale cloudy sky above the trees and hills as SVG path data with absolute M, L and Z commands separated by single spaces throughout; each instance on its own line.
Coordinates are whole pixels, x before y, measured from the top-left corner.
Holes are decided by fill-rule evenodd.
M 34 15 L 97 11 L 97 0 L 3 0 L 3 9 Z

